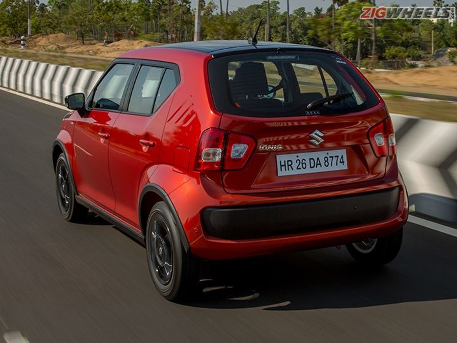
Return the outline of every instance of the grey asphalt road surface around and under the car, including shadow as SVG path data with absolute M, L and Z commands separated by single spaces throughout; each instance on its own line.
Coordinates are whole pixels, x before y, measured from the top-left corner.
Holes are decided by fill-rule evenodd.
M 0 342 L 456 342 L 457 238 L 414 224 L 379 270 L 344 248 L 208 263 L 195 301 L 162 299 L 141 245 L 60 217 L 63 114 L 0 91 Z

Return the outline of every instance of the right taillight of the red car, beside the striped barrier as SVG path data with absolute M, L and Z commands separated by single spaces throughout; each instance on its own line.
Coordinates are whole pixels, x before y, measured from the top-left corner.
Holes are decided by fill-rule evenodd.
M 387 118 L 377 123 L 368 131 L 371 147 L 377 157 L 392 156 L 397 153 L 392 119 Z

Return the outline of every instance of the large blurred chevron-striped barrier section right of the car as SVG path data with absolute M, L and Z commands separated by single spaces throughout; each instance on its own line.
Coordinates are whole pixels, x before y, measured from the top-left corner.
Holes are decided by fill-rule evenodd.
M 398 114 L 392 120 L 412 211 L 457 224 L 457 123 Z

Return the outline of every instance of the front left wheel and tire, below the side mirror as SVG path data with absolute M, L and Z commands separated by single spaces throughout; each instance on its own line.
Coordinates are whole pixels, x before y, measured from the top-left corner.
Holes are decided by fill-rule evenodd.
M 56 196 L 60 214 L 69 222 L 83 222 L 87 217 L 88 209 L 76 202 L 70 168 L 63 153 L 57 159 L 55 172 Z

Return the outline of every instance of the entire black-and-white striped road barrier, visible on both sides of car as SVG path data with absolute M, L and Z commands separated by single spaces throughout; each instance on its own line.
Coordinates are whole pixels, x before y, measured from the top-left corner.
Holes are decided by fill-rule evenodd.
M 0 57 L 0 86 L 63 104 L 90 92 L 102 72 Z M 392 114 L 411 209 L 457 223 L 457 123 Z

